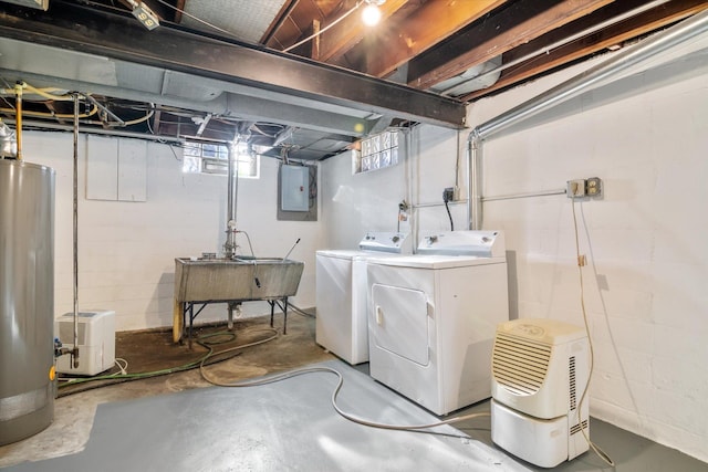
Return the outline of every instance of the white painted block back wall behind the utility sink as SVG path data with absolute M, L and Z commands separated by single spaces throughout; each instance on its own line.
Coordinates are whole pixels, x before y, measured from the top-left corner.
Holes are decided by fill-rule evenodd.
M 66 133 L 25 133 L 28 161 L 56 170 L 55 314 L 73 311 L 72 159 Z M 91 147 L 94 153 L 95 148 Z M 116 329 L 171 326 L 177 256 L 221 252 L 227 207 L 226 176 L 185 175 L 181 150 L 148 144 L 147 201 L 85 199 L 86 136 L 79 141 L 79 303 L 80 310 L 115 310 Z M 98 149 L 101 151 L 101 149 Z M 239 180 L 238 223 L 258 256 L 290 255 L 305 263 L 298 295 L 300 307 L 314 306 L 314 251 L 320 222 L 277 221 L 278 161 L 261 159 L 261 178 Z M 249 254 L 246 239 L 238 240 Z M 270 313 L 263 302 L 243 305 L 244 316 Z M 277 316 L 280 323 L 282 316 Z M 226 321 L 226 305 L 207 307 L 197 322 Z

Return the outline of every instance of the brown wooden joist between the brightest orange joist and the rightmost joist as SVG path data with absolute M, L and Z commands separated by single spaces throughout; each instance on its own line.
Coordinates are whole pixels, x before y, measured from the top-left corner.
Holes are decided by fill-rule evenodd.
M 517 1 L 490 21 L 472 23 L 440 48 L 413 60 L 408 67 L 408 85 L 429 88 L 611 2 Z M 470 44 L 476 46 L 470 48 Z

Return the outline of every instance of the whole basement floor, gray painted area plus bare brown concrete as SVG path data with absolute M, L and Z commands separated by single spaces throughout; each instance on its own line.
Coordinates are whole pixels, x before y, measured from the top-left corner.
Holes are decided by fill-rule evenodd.
M 339 405 L 346 411 L 396 424 L 438 420 L 368 377 L 367 365 L 351 367 L 319 348 L 312 318 L 293 318 L 288 333 L 209 371 L 233 380 L 301 366 L 334 367 L 344 377 Z M 249 334 L 258 335 L 240 331 L 241 342 Z M 179 350 L 166 344 L 160 353 L 169 349 Z M 72 395 L 56 400 L 54 423 L 46 430 L 0 447 L 0 470 L 540 470 L 493 445 L 486 417 L 437 428 L 435 434 L 352 423 L 332 408 L 336 381 L 332 374 L 316 373 L 259 387 L 220 388 L 206 387 L 190 370 Z M 451 416 L 483 411 L 488 402 Z M 706 463 L 603 421 L 591 420 L 591 437 L 617 471 L 708 472 Z M 586 452 L 554 470 L 613 469 Z

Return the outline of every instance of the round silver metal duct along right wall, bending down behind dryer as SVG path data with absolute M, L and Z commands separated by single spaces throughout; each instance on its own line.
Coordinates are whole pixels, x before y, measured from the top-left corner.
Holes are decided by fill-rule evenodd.
M 574 98 L 592 87 L 606 84 L 608 81 L 641 62 L 653 59 L 656 54 L 668 51 L 706 31 L 708 31 L 708 10 L 697 13 L 675 27 L 614 54 L 607 61 L 589 69 L 472 129 L 467 138 L 467 161 L 469 169 L 467 204 L 469 229 L 478 230 L 482 227 L 481 160 L 482 145 L 486 139 L 489 139 L 512 125 Z

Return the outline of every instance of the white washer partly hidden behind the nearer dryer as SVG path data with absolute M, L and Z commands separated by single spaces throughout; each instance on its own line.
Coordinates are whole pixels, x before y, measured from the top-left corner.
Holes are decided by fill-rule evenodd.
M 408 233 L 367 232 L 357 250 L 316 252 L 315 340 L 352 365 L 368 360 L 366 259 L 413 252 Z

